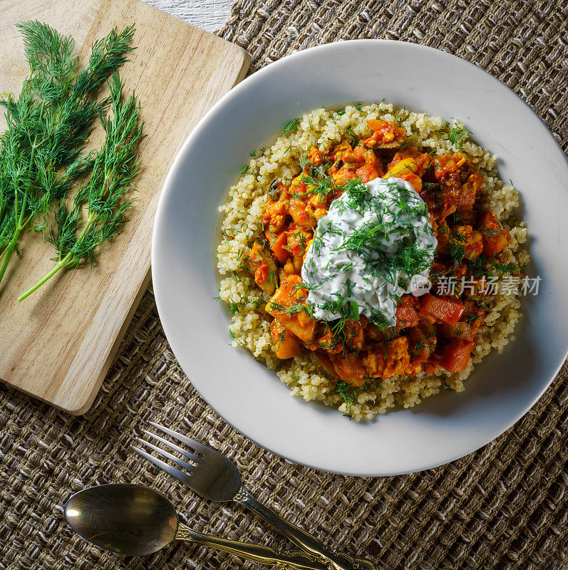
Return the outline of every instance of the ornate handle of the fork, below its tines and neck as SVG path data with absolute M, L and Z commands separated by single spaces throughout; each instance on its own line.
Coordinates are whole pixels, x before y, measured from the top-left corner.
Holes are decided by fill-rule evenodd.
M 314 556 L 318 556 L 331 570 L 355 570 L 363 568 L 378 570 L 377 566 L 370 560 L 353 559 L 347 554 L 338 554 L 329 549 L 323 542 L 316 539 L 312 534 L 309 534 L 309 532 L 302 530 L 300 527 L 296 527 L 295 524 L 286 521 L 279 514 L 264 507 L 264 504 L 257 501 L 244 487 L 241 487 L 239 492 L 235 495 L 234 500 L 244 507 L 247 507 L 247 509 L 254 512 L 254 514 L 257 514 L 268 524 L 271 524 L 277 531 L 284 534 L 284 537 L 294 542 L 296 546 L 299 546 Z

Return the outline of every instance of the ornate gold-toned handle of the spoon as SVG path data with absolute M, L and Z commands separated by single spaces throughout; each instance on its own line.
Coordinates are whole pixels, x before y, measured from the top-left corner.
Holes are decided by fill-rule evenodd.
M 209 534 L 192 530 L 181 523 L 177 527 L 175 538 L 195 542 L 202 546 L 212 546 L 218 550 L 230 552 L 231 554 L 254 560 L 260 564 L 277 566 L 283 570 L 327 570 L 324 564 L 316 561 L 309 556 L 309 554 L 299 552 L 279 554 L 268 546 L 259 546 L 257 544 L 247 544 L 246 542 L 211 537 Z

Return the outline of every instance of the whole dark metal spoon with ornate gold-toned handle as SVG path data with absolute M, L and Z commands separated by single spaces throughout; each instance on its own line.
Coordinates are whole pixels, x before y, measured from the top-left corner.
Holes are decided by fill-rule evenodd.
M 106 484 L 74 494 L 65 505 L 71 528 L 104 549 L 144 556 L 161 550 L 173 540 L 213 546 L 260 564 L 290 570 L 326 570 L 305 554 L 279 554 L 268 546 L 212 537 L 180 523 L 172 503 L 158 491 L 135 484 Z

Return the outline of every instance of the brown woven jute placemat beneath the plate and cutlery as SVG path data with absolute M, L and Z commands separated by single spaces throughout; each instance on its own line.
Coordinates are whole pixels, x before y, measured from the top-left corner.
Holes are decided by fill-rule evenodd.
M 241 0 L 220 34 L 249 51 L 252 71 L 294 50 L 347 38 L 440 48 L 507 83 L 566 149 L 563 4 Z M 568 557 L 567 376 L 565 365 L 524 418 L 461 460 L 400 477 L 329 475 L 262 450 L 201 400 L 167 345 L 150 289 L 83 417 L 0 387 L 0 569 L 257 567 L 192 544 L 128 559 L 71 534 L 63 517 L 71 493 L 119 481 L 160 489 L 195 529 L 291 547 L 240 507 L 199 499 L 145 465 L 129 447 L 148 420 L 217 447 L 237 462 L 259 499 L 381 569 L 562 569 Z

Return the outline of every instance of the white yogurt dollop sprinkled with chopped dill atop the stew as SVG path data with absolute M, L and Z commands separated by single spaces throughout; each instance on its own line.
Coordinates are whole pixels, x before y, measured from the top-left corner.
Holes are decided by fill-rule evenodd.
M 301 269 L 314 316 L 394 326 L 398 297 L 428 281 L 437 245 L 428 208 L 405 180 L 346 187 L 319 219 Z

